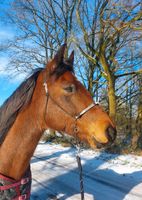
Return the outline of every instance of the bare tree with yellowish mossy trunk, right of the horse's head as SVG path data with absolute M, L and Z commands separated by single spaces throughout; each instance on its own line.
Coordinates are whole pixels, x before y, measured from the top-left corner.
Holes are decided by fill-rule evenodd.
M 116 80 L 135 73 L 141 53 L 133 51 L 133 62 L 127 48 L 137 46 L 140 40 L 139 28 L 140 2 L 79 0 L 77 21 L 84 42 L 76 41 L 82 54 L 92 63 L 90 70 L 95 73 L 96 66 L 108 85 L 109 113 L 116 116 Z M 93 12 L 92 12 L 93 11 Z M 137 12 L 136 12 L 137 11 Z M 91 14 L 90 14 L 91 13 Z M 91 54 L 90 54 L 91 52 Z M 129 73 L 127 73 L 129 71 Z M 92 76 L 92 75 L 91 75 Z M 93 82 L 93 81 L 92 81 Z

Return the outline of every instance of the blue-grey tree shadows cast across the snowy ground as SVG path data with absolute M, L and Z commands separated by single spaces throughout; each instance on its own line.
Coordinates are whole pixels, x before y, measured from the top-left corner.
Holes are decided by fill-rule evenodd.
M 60 157 L 61 155 L 67 153 L 74 154 L 71 149 L 67 149 L 65 151 L 53 153 L 50 156 L 45 156 L 41 158 L 35 157 L 32 159 L 32 163 L 42 160 L 47 162 L 47 164 L 42 167 L 41 171 L 41 176 L 44 176 L 43 182 L 36 182 L 37 180 L 33 179 L 33 182 L 38 185 L 38 189 L 32 192 L 31 197 L 33 200 L 56 199 L 55 197 L 59 194 L 62 194 L 59 199 L 65 200 L 67 198 L 73 198 L 75 195 L 80 194 L 78 168 L 69 170 L 65 166 L 59 164 L 56 165 L 55 160 L 58 159 L 58 157 Z M 115 159 L 118 156 L 108 156 L 107 159 L 103 160 L 103 154 L 104 153 L 100 153 L 98 157 L 86 161 L 84 160 L 84 192 L 91 195 L 91 198 L 86 199 L 122 200 L 136 185 L 142 182 L 142 171 L 127 174 L 118 174 L 111 169 L 98 169 L 98 167 L 103 165 L 106 161 Z M 53 163 L 51 163 L 50 161 L 48 162 L 48 160 L 51 158 L 53 158 L 54 160 Z M 97 160 L 97 162 L 95 162 L 95 160 Z M 70 165 L 70 163 L 68 163 L 68 165 Z M 56 170 L 61 170 L 61 174 L 57 174 L 55 177 L 51 177 L 49 179 L 49 172 L 54 173 L 56 172 Z M 48 178 L 46 179 L 46 177 Z M 131 194 L 136 195 L 139 199 L 141 199 L 142 197 L 140 194 L 135 194 L 133 192 L 131 192 Z

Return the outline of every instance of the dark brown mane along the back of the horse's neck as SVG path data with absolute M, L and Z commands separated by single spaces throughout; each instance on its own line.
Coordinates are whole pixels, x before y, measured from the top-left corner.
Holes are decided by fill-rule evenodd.
M 15 90 L 15 92 L 0 107 L 0 144 L 4 141 L 18 113 L 30 102 L 36 81 L 42 68 L 38 68 Z

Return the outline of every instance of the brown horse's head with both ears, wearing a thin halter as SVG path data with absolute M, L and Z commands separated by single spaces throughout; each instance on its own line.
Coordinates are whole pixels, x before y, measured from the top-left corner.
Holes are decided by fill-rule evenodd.
M 110 144 L 116 137 L 115 125 L 75 77 L 74 52 L 65 60 L 65 49 L 66 45 L 61 46 L 44 70 L 47 127 L 64 131 L 91 147 Z

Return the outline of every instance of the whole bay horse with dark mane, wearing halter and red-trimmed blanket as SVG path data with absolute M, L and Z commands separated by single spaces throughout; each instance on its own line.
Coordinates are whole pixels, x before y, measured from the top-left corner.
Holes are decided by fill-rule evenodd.
M 75 77 L 74 52 L 65 60 L 65 49 L 64 44 L 0 108 L 1 200 L 30 198 L 30 159 L 46 129 L 65 132 L 92 148 L 116 137 L 108 114 Z

